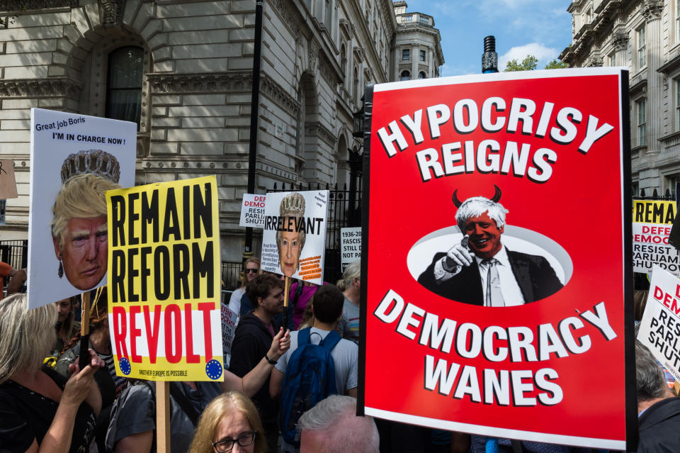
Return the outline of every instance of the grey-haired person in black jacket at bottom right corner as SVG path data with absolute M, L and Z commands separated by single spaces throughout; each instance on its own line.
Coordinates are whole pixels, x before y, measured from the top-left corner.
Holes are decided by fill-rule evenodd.
M 670 391 L 652 353 L 635 342 L 638 381 L 638 453 L 680 452 L 680 398 Z

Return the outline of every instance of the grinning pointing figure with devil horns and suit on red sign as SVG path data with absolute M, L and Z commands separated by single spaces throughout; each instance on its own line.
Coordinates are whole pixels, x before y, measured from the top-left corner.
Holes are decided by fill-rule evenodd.
M 439 252 L 420 274 L 419 284 L 453 301 L 472 305 L 517 306 L 546 298 L 562 288 L 548 260 L 508 250 L 501 242 L 508 211 L 499 203 L 501 191 L 453 203 L 463 240 Z

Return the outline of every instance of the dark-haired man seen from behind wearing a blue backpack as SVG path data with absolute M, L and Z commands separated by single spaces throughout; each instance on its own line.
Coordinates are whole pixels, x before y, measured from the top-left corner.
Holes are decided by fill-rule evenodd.
M 330 394 L 356 398 L 358 346 L 335 330 L 344 296 L 327 284 L 314 293 L 311 303 L 314 324 L 290 333 L 290 349 L 271 371 L 269 393 L 272 398 L 281 395 L 279 428 L 286 452 L 299 447 L 295 424 L 302 413 Z

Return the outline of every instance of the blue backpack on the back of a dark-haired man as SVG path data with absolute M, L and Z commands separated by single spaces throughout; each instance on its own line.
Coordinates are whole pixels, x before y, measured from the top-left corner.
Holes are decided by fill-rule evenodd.
M 310 342 L 310 330 L 297 332 L 297 349 L 290 355 L 281 386 L 278 425 L 285 442 L 295 447 L 300 446 L 300 435 L 295 428 L 297 420 L 322 399 L 338 393 L 331 350 L 340 341 L 340 334 L 331 330 L 314 345 Z

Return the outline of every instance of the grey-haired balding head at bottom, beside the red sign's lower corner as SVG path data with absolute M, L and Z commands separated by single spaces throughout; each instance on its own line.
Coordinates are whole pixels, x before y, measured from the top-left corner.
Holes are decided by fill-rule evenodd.
M 380 438 L 373 418 L 356 415 L 356 399 L 331 395 L 307 410 L 297 427 L 300 453 L 378 453 Z

